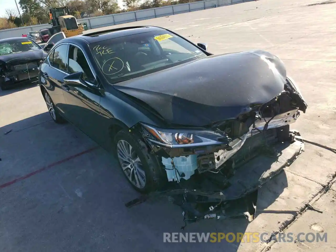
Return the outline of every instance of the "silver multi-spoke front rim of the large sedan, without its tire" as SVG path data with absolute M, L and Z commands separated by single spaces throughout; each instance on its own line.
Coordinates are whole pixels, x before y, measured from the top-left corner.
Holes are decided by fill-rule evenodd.
M 119 140 L 117 153 L 121 168 L 129 181 L 137 188 L 143 188 L 146 185 L 146 175 L 135 150 L 127 141 Z

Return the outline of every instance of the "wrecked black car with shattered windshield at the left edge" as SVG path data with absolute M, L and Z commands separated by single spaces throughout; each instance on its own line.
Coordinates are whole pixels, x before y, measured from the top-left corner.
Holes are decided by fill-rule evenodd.
M 39 66 L 47 56 L 36 42 L 27 37 L 0 40 L 0 88 L 38 81 Z

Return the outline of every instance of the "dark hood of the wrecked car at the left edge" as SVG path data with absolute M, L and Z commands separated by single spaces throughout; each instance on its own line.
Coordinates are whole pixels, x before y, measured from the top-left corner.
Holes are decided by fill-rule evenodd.
M 31 60 L 44 59 L 47 55 L 48 53 L 46 53 L 43 49 L 32 50 L 28 52 L 9 53 L 0 56 L 0 64 L 22 64 Z

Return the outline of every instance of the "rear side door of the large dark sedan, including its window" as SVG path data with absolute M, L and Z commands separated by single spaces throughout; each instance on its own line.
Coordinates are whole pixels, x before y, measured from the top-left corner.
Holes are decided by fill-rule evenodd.
M 67 75 L 68 47 L 68 44 L 61 44 L 53 48 L 47 56 L 46 66 L 41 68 L 41 78 L 43 78 L 43 82 L 46 82 L 45 87 L 56 108 L 65 118 L 68 116 L 66 115 L 66 101 L 62 84 L 64 84 L 63 78 Z

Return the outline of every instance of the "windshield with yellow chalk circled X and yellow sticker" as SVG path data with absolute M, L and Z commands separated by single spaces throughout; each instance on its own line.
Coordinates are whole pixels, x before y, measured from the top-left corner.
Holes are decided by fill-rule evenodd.
M 207 56 L 198 47 L 168 31 L 104 40 L 91 44 L 90 49 L 110 84 Z

